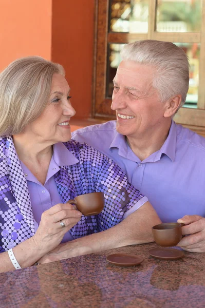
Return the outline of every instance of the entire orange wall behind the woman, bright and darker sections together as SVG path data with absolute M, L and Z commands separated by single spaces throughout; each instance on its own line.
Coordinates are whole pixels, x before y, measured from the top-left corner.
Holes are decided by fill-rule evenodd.
M 90 115 L 95 0 L 0 0 L 0 70 L 18 57 L 61 63 L 76 119 Z

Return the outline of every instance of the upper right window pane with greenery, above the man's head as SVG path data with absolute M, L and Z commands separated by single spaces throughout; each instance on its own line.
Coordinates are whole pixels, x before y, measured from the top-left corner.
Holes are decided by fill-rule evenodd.
M 157 0 L 158 32 L 199 32 L 201 0 Z

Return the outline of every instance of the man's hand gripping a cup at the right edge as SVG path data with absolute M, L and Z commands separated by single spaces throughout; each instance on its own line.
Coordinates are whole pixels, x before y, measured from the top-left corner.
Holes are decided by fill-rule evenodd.
M 185 215 L 177 220 L 184 223 L 181 239 L 177 246 L 191 253 L 205 253 L 205 218 L 199 215 Z

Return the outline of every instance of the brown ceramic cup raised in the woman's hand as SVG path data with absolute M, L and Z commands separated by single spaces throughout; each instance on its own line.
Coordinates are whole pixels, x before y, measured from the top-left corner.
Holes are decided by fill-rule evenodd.
M 103 192 L 90 192 L 80 195 L 67 203 L 75 204 L 84 216 L 97 215 L 104 208 L 105 200 Z

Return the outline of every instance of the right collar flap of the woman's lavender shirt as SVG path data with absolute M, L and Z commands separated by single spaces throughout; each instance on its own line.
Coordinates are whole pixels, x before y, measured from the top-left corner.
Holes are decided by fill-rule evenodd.
M 53 144 L 53 159 L 58 166 L 70 166 L 79 162 L 62 142 Z

